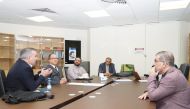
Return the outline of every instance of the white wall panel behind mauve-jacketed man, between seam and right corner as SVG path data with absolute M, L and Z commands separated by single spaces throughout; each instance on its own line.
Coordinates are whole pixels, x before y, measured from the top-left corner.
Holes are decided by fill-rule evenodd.
M 163 22 L 147 24 L 146 49 L 147 69 L 153 65 L 154 56 L 159 51 L 171 51 L 175 57 L 175 63 L 179 64 L 180 47 L 180 23 Z

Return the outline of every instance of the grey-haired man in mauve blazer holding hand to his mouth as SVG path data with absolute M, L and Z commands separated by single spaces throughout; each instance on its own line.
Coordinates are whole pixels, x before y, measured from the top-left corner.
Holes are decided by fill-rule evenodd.
M 162 75 L 158 79 L 158 74 Z M 180 70 L 174 67 L 174 56 L 158 52 L 148 78 L 148 90 L 140 99 L 156 102 L 156 109 L 190 109 L 190 87 Z

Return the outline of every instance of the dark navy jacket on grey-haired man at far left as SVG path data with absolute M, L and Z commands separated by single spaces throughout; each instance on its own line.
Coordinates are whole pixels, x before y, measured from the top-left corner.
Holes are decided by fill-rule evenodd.
M 18 59 L 9 70 L 5 86 L 7 91 L 34 91 L 45 77 L 34 75 L 31 66 L 22 59 Z

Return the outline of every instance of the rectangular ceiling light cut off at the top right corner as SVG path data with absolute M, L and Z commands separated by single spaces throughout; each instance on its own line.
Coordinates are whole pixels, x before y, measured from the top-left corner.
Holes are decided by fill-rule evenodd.
M 189 0 L 161 2 L 160 3 L 160 10 L 171 10 L 171 9 L 186 8 L 188 6 L 188 4 L 189 4 Z

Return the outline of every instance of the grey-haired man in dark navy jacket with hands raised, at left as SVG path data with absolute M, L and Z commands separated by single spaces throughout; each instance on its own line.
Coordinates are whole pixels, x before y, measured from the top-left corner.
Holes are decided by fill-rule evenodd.
M 20 57 L 9 70 L 6 79 L 7 91 L 34 91 L 45 81 L 45 77 L 52 73 L 51 69 L 42 69 L 40 74 L 34 75 L 32 67 L 37 60 L 37 51 L 34 48 L 25 48 L 20 51 Z

